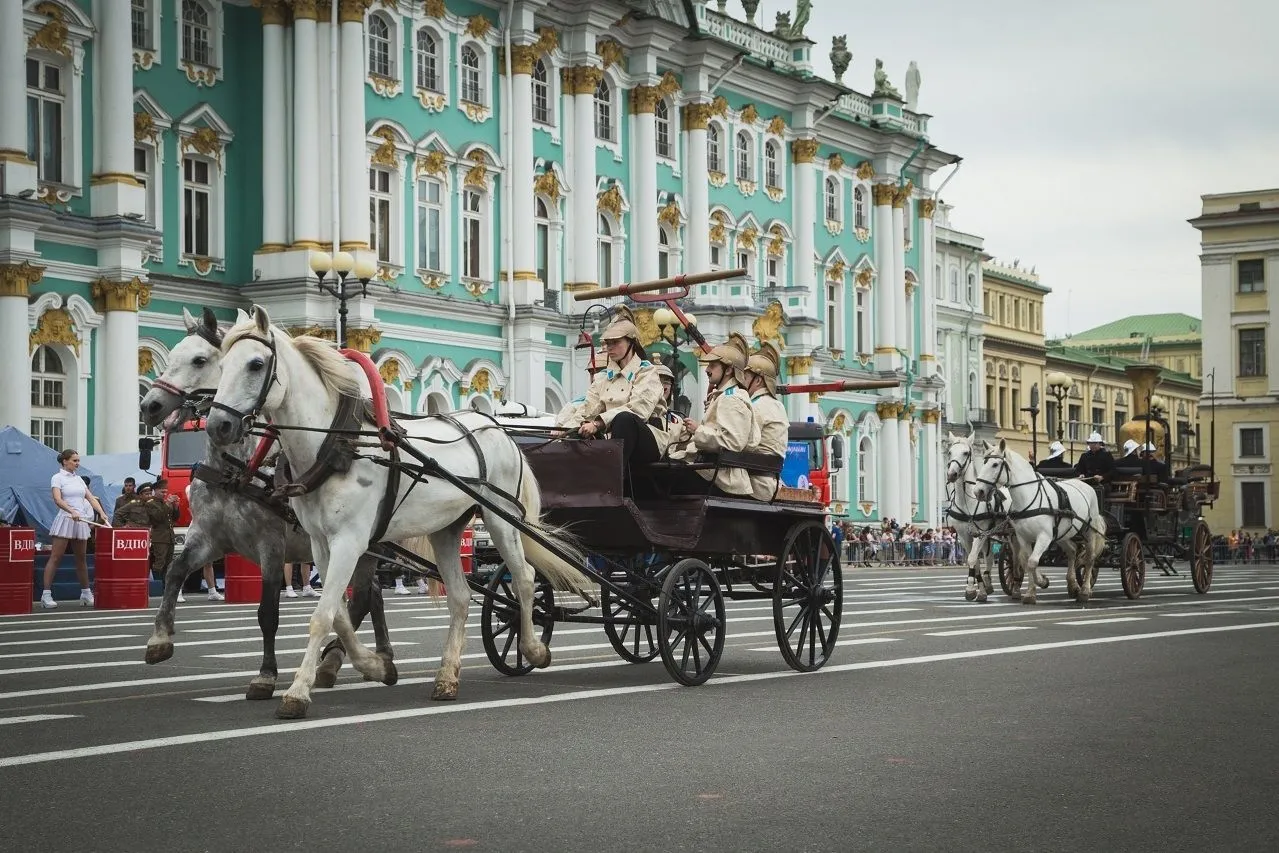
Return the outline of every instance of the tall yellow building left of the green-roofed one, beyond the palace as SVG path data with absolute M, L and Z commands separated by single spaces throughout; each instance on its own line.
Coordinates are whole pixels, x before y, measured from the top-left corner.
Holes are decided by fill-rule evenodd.
M 1008 266 L 986 261 L 981 272 L 986 315 L 981 419 L 994 423 L 998 437 L 1028 457 L 1030 416 L 1021 409 L 1030 405 L 1031 387 L 1044 387 L 1044 297 L 1051 290 L 1040 284 L 1033 270 L 1017 262 Z

